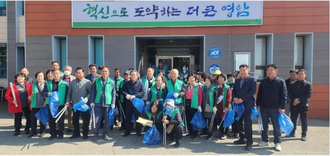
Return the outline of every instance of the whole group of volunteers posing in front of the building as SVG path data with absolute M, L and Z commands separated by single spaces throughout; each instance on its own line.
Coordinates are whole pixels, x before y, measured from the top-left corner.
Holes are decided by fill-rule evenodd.
M 72 111 L 72 106 L 81 97 L 86 97 L 88 102 L 85 104 L 93 108 L 95 114 L 95 118 L 93 118 L 95 127 L 91 126 L 94 141 L 99 139 L 100 129 L 102 129 L 103 140 L 109 139 L 107 133 L 109 129 L 113 130 L 113 125 L 109 126 L 108 114 L 110 109 L 117 108 L 118 122 L 121 122 L 119 130 L 125 130 L 124 137 L 130 135 L 131 130 L 135 130 L 136 135 L 141 136 L 142 131 L 150 128 L 150 126 L 138 122 L 135 122 L 134 127 L 134 121 L 131 120 L 133 116 L 135 120 L 142 117 L 153 121 L 153 125 L 159 132 L 166 128 L 168 133 L 166 137 L 170 138 L 170 141 L 175 140 L 175 147 L 180 146 L 180 139 L 183 137 L 186 126 L 188 134 L 185 137 L 197 139 L 199 136 L 206 137 L 207 140 L 212 139 L 213 130 L 218 129 L 219 126 L 217 138 L 239 138 L 233 143 L 235 145 L 244 144 L 246 150 L 251 150 L 253 144 L 251 111 L 256 106 L 260 110 L 264 128 L 262 142 L 258 143 L 258 146 L 269 145 L 268 123 L 270 119 L 274 128 L 275 151 L 281 151 L 281 129 L 278 116 L 279 113 L 285 112 L 286 105 L 290 105 L 290 115 L 294 123 L 294 130 L 288 137 L 296 136 L 297 118 L 300 115 L 301 140 L 306 141 L 306 115 L 312 85 L 304 80 L 306 77 L 304 69 L 291 70 L 290 74 L 296 74 L 296 76 L 291 76 L 284 81 L 276 77 L 278 67 L 275 64 L 269 64 L 267 77 L 261 81 L 256 98 L 257 81 L 256 78 L 249 75 L 250 69 L 247 64 L 239 66 L 237 75 L 235 72 L 225 75 L 220 70 L 215 71 L 212 75 L 204 72 L 191 74 L 187 66 L 184 66 L 186 68 L 183 68 L 185 71 L 182 75 L 177 69 L 165 68 L 162 61 L 159 62 L 159 65 L 156 69 L 147 68 L 146 75 L 141 78 L 134 69 L 126 70 L 124 77 L 121 77 L 121 69 L 115 68 L 115 77 L 110 78 L 108 66 L 100 66 L 98 74 L 98 66 L 90 64 L 90 74 L 85 75 L 84 68 L 78 67 L 75 69 L 74 77 L 71 75 L 70 66 L 65 66 L 64 72 L 62 72 L 59 63 L 54 61 L 52 68 L 46 73 L 38 71 L 35 74 L 36 82 L 28 77 L 28 69 L 22 68 L 21 72 L 15 75 L 15 82 L 10 83 L 5 94 L 5 98 L 8 100 L 8 110 L 15 115 L 14 136 L 21 132 L 24 112 L 27 120 L 25 133 L 30 134 L 29 138 L 36 137 L 38 134 L 37 119 L 34 115 L 45 107 L 49 114 L 48 125 L 51 135 L 48 140 L 63 139 L 64 116 L 60 116 L 60 119 L 54 118 L 49 107 L 52 93 L 59 92 L 58 111 L 67 107 L 68 130 L 66 132 L 70 132 L 69 129 L 73 132 L 70 139 L 81 137 L 79 115 L 83 121 L 83 139 L 88 139 L 92 109 L 86 112 Z M 155 72 L 157 72 L 157 77 Z M 169 93 L 173 94 L 175 100 L 166 98 Z M 220 96 L 221 98 L 219 98 Z M 287 98 L 288 96 L 289 98 Z M 144 105 L 149 105 L 150 109 L 145 112 L 138 111 L 132 103 L 134 98 L 142 99 Z M 289 99 L 289 103 L 287 103 L 287 99 Z M 243 105 L 245 109 L 241 116 L 238 116 L 237 112 L 235 113 L 234 119 L 236 120 L 231 125 L 230 134 L 229 127 L 223 127 L 221 121 L 225 118 L 226 113 L 237 105 Z M 208 124 L 205 128 L 200 129 L 200 133 L 191 124 L 197 112 L 201 113 Z M 57 123 L 56 120 L 58 120 Z M 41 122 L 39 125 L 39 137 L 42 137 L 46 125 Z

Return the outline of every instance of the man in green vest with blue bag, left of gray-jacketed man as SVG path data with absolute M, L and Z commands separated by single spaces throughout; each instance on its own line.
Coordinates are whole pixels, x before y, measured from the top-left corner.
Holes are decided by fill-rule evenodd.
M 51 92 L 59 92 L 59 107 L 58 107 L 58 112 L 60 112 L 65 105 L 66 101 L 66 94 L 67 94 L 67 85 L 66 81 L 61 80 L 61 69 L 52 69 L 51 70 L 52 75 L 53 75 L 53 80 L 52 81 L 47 81 L 46 85 L 44 86 L 42 90 L 43 96 L 47 97 L 46 98 L 46 104 L 50 104 L 50 96 Z M 58 139 L 63 139 L 63 134 L 64 134 L 64 115 L 61 116 L 59 121 L 57 122 L 59 125 L 59 130 L 56 130 L 56 123 L 55 121 L 57 120 L 56 118 L 53 118 L 51 114 L 50 107 L 48 106 L 48 125 L 49 125 L 49 134 L 50 137 L 48 140 L 53 140 L 58 137 Z

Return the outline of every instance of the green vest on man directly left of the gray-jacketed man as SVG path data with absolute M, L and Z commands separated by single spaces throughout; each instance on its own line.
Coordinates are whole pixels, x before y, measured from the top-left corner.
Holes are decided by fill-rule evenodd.
M 66 81 L 63 81 L 63 80 L 59 80 L 59 87 L 58 87 L 58 90 L 59 90 L 59 105 L 64 105 L 65 104 L 65 97 L 66 97 Z M 53 90 L 53 80 L 52 81 L 47 81 L 46 82 L 46 85 L 47 85 L 47 90 L 48 92 L 52 92 Z M 47 96 L 46 98 L 46 104 L 49 104 L 49 97 Z

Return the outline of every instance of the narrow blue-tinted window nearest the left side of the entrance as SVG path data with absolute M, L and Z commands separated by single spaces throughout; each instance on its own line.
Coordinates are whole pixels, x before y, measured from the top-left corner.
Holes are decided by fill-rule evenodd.
M 104 65 L 103 36 L 89 36 L 89 64 Z

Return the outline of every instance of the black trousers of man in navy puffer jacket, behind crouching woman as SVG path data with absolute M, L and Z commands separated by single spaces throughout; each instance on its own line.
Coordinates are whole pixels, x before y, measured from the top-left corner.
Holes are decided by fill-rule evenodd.
M 141 113 L 137 111 L 137 109 L 133 106 L 132 101 L 126 100 L 126 121 L 125 121 L 125 132 L 130 133 L 131 132 L 131 119 L 132 115 L 134 113 L 135 120 L 137 120 L 139 117 L 141 117 Z M 142 125 L 140 123 L 135 123 L 135 132 L 140 133 L 141 132 Z

